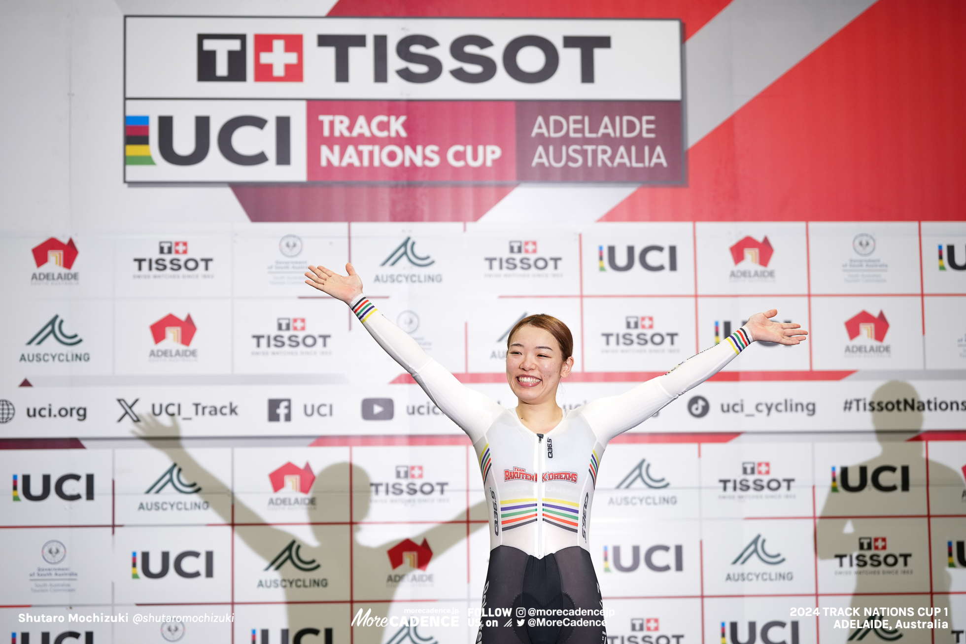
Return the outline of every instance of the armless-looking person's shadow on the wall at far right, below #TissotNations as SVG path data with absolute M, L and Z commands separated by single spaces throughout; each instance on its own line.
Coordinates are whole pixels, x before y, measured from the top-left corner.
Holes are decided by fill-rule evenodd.
M 890 629 L 841 630 L 838 632 L 842 633 L 842 641 L 846 637 L 849 641 L 858 641 L 874 631 L 874 641 L 901 637 L 903 643 L 931 642 L 932 630 L 896 629 L 896 620 L 929 621 L 929 617 L 918 614 L 920 606 L 929 605 L 942 608 L 949 615 L 949 595 L 944 593 L 949 592 L 952 578 L 945 567 L 941 574 L 929 571 L 931 545 L 927 543 L 929 529 L 925 518 L 929 490 L 926 489 L 924 443 L 909 442 L 923 428 L 923 412 L 905 405 L 904 401 L 908 400 L 918 403 L 919 393 L 908 382 L 897 380 L 886 382 L 872 394 L 870 403 L 876 403 L 876 409 L 879 402 L 883 406 L 882 410 L 870 412 L 880 452 L 878 456 L 855 463 L 850 462 L 847 454 L 839 457 L 841 464 L 833 475 L 833 488 L 819 513 L 817 538 L 818 558 L 831 560 L 833 574 L 851 575 L 855 580 L 850 605 L 858 612 L 851 619 L 859 619 L 862 624 L 872 619 L 866 609 L 875 613 L 879 607 L 912 606 L 917 614 L 912 617 L 881 615 L 889 619 Z M 908 482 L 903 466 L 908 467 Z M 928 467 L 933 481 L 937 478 L 958 480 L 956 473 L 943 463 L 929 461 Z M 863 490 L 851 491 L 857 488 Z M 895 515 L 916 517 L 882 518 Z M 936 557 L 942 557 L 945 561 L 945 554 L 945 551 L 933 552 L 932 558 L 935 561 Z M 931 604 L 930 577 L 935 593 Z M 908 581 L 903 583 L 902 579 Z M 820 587 L 819 592 L 830 590 Z M 950 617 L 945 621 L 952 624 Z M 936 633 L 936 641 L 941 632 Z

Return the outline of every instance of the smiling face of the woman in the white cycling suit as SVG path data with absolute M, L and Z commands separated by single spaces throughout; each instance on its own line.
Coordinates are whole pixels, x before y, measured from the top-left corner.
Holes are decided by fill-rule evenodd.
M 570 375 L 574 358 L 563 359 L 549 331 L 521 326 L 506 351 L 506 380 L 521 402 L 536 404 L 556 399 L 560 378 Z

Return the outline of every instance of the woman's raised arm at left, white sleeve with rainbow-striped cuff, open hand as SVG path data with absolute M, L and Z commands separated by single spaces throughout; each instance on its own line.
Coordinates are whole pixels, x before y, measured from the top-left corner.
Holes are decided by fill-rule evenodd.
M 502 412 L 502 407 L 464 386 L 422 350 L 408 333 L 389 322 L 362 294 L 362 280 L 353 265 L 347 264 L 346 270 L 348 275 L 339 275 L 324 266 L 309 266 L 305 283 L 348 304 L 376 342 L 409 372 L 436 406 L 459 425 L 472 442 L 479 440 Z

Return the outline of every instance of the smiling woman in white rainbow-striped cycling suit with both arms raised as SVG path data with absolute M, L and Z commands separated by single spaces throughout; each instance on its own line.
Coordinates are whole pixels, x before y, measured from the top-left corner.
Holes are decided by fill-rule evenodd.
M 485 644 L 607 644 L 587 542 L 604 448 L 714 376 L 752 342 L 797 345 L 808 333 L 798 324 L 770 321 L 778 315 L 774 309 L 756 313 L 724 342 L 664 376 L 564 411 L 556 404 L 556 388 L 574 366 L 573 338 L 563 322 L 529 316 L 517 322 L 506 341 L 506 380 L 518 399 L 507 409 L 443 369 L 362 294 L 362 280 L 351 264 L 346 270 L 348 275 L 339 275 L 309 266 L 305 283 L 346 302 L 476 450 L 490 506 L 483 607 L 513 615 L 506 623 L 497 620 L 497 627 L 480 627 L 477 642 Z M 527 619 L 517 619 L 521 614 Z M 542 621 L 529 626 L 533 615 Z

